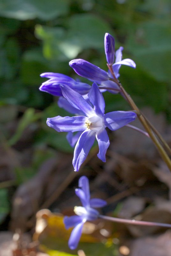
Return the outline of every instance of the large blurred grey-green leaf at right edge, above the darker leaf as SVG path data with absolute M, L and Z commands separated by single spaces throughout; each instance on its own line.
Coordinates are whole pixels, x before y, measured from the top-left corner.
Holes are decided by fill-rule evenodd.
M 144 22 L 128 40 L 128 49 L 134 60 L 159 81 L 171 81 L 169 62 L 171 59 L 171 30 L 168 24 Z

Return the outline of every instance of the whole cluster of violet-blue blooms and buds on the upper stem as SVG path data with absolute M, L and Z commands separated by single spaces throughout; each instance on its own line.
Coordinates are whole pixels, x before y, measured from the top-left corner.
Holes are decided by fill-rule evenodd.
M 122 60 L 122 50 L 123 47 L 120 47 L 115 52 L 114 38 L 106 33 L 106 58 L 116 78 L 119 77 L 119 69 L 122 64 L 135 68 L 133 60 Z M 106 72 L 81 59 L 71 60 L 69 65 L 78 75 L 93 81 L 92 86 L 63 74 L 43 73 L 41 76 L 48 77 L 49 80 L 41 85 L 40 90 L 55 96 L 62 96 L 58 102 L 59 106 L 74 114 L 72 117 L 56 116 L 48 118 L 47 124 L 57 132 L 68 132 L 67 139 L 70 145 L 74 147 L 76 144 L 73 166 L 74 170 L 78 171 L 95 139 L 99 145 L 97 156 L 105 162 L 106 151 L 109 147 L 106 128 L 115 131 L 134 121 L 136 114 L 132 111 L 113 111 L 105 114 L 105 101 L 102 92 L 106 90 L 112 93 L 120 92 L 118 84 L 112 81 L 110 71 Z M 100 89 L 99 86 L 102 86 L 103 89 Z M 73 132 L 77 133 L 73 134 Z

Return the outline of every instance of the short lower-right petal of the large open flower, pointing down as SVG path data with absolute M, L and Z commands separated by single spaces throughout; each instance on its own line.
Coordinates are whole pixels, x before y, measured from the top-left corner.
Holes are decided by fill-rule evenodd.
M 109 147 L 109 137 L 105 129 L 100 130 L 100 132 L 96 133 L 96 139 L 99 145 L 99 153 L 98 157 L 103 162 L 106 162 L 106 151 Z

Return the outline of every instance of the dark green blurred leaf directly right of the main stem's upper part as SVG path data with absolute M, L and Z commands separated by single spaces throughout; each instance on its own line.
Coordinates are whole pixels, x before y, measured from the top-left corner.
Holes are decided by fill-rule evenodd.
M 169 104 L 167 84 L 157 81 L 147 71 L 141 69 L 139 62 L 137 64 L 136 69 L 121 67 L 119 78 L 124 88 L 140 108 L 150 106 L 156 112 L 167 109 Z

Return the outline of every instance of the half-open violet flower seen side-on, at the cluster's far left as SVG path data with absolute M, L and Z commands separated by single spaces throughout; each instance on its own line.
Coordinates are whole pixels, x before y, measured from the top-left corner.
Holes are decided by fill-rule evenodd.
M 54 96 L 62 96 L 60 84 L 70 86 L 73 90 L 77 91 L 81 95 L 86 95 L 91 88 L 89 84 L 76 81 L 70 76 L 66 76 L 59 73 L 48 72 L 42 73 L 40 76 L 47 77 L 49 78 L 49 80 L 42 83 L 39 90 L 42 92 L 48 92 Z

